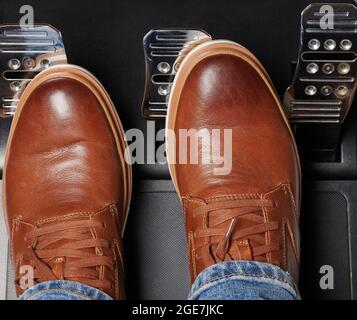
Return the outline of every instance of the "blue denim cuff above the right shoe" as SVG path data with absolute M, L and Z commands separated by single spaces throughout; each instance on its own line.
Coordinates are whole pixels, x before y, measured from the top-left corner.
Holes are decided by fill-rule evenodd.
M 203 270 L 190 300 L 297 300 L 297 285 L 281 268 L 256 261 L 228 261 Z

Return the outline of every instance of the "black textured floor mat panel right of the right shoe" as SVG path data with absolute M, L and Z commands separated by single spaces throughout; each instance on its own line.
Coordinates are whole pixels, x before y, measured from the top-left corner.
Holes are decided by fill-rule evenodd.
M 320 182 L 317 190 L 304 198 L 300 282 L 304 299 L 353 297 L 348 224 L 351 203 L 348 194 L 332 191 L 335 184 L 338 182 Z M 325 188 L 330 190 L 322 190 Z M 324 266 L 333 268 L 333 288 L 320 285 Z

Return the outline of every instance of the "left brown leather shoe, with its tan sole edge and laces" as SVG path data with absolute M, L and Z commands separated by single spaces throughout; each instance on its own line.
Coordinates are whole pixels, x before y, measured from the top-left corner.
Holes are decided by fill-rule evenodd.
M 125 146 L 108 94 L 84 69 L 49 68 L 25 89 L 3 179 L 18 295 L 22 267 L 32 266 L 34 284 L 79 281 L 124 297 Z

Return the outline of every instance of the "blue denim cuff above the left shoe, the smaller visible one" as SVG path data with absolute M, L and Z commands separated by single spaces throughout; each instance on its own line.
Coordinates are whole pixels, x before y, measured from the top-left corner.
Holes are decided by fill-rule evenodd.
M 67 280 L 41 282 L 27 289 L 20 300 L 113 300 L 86 284 Z

